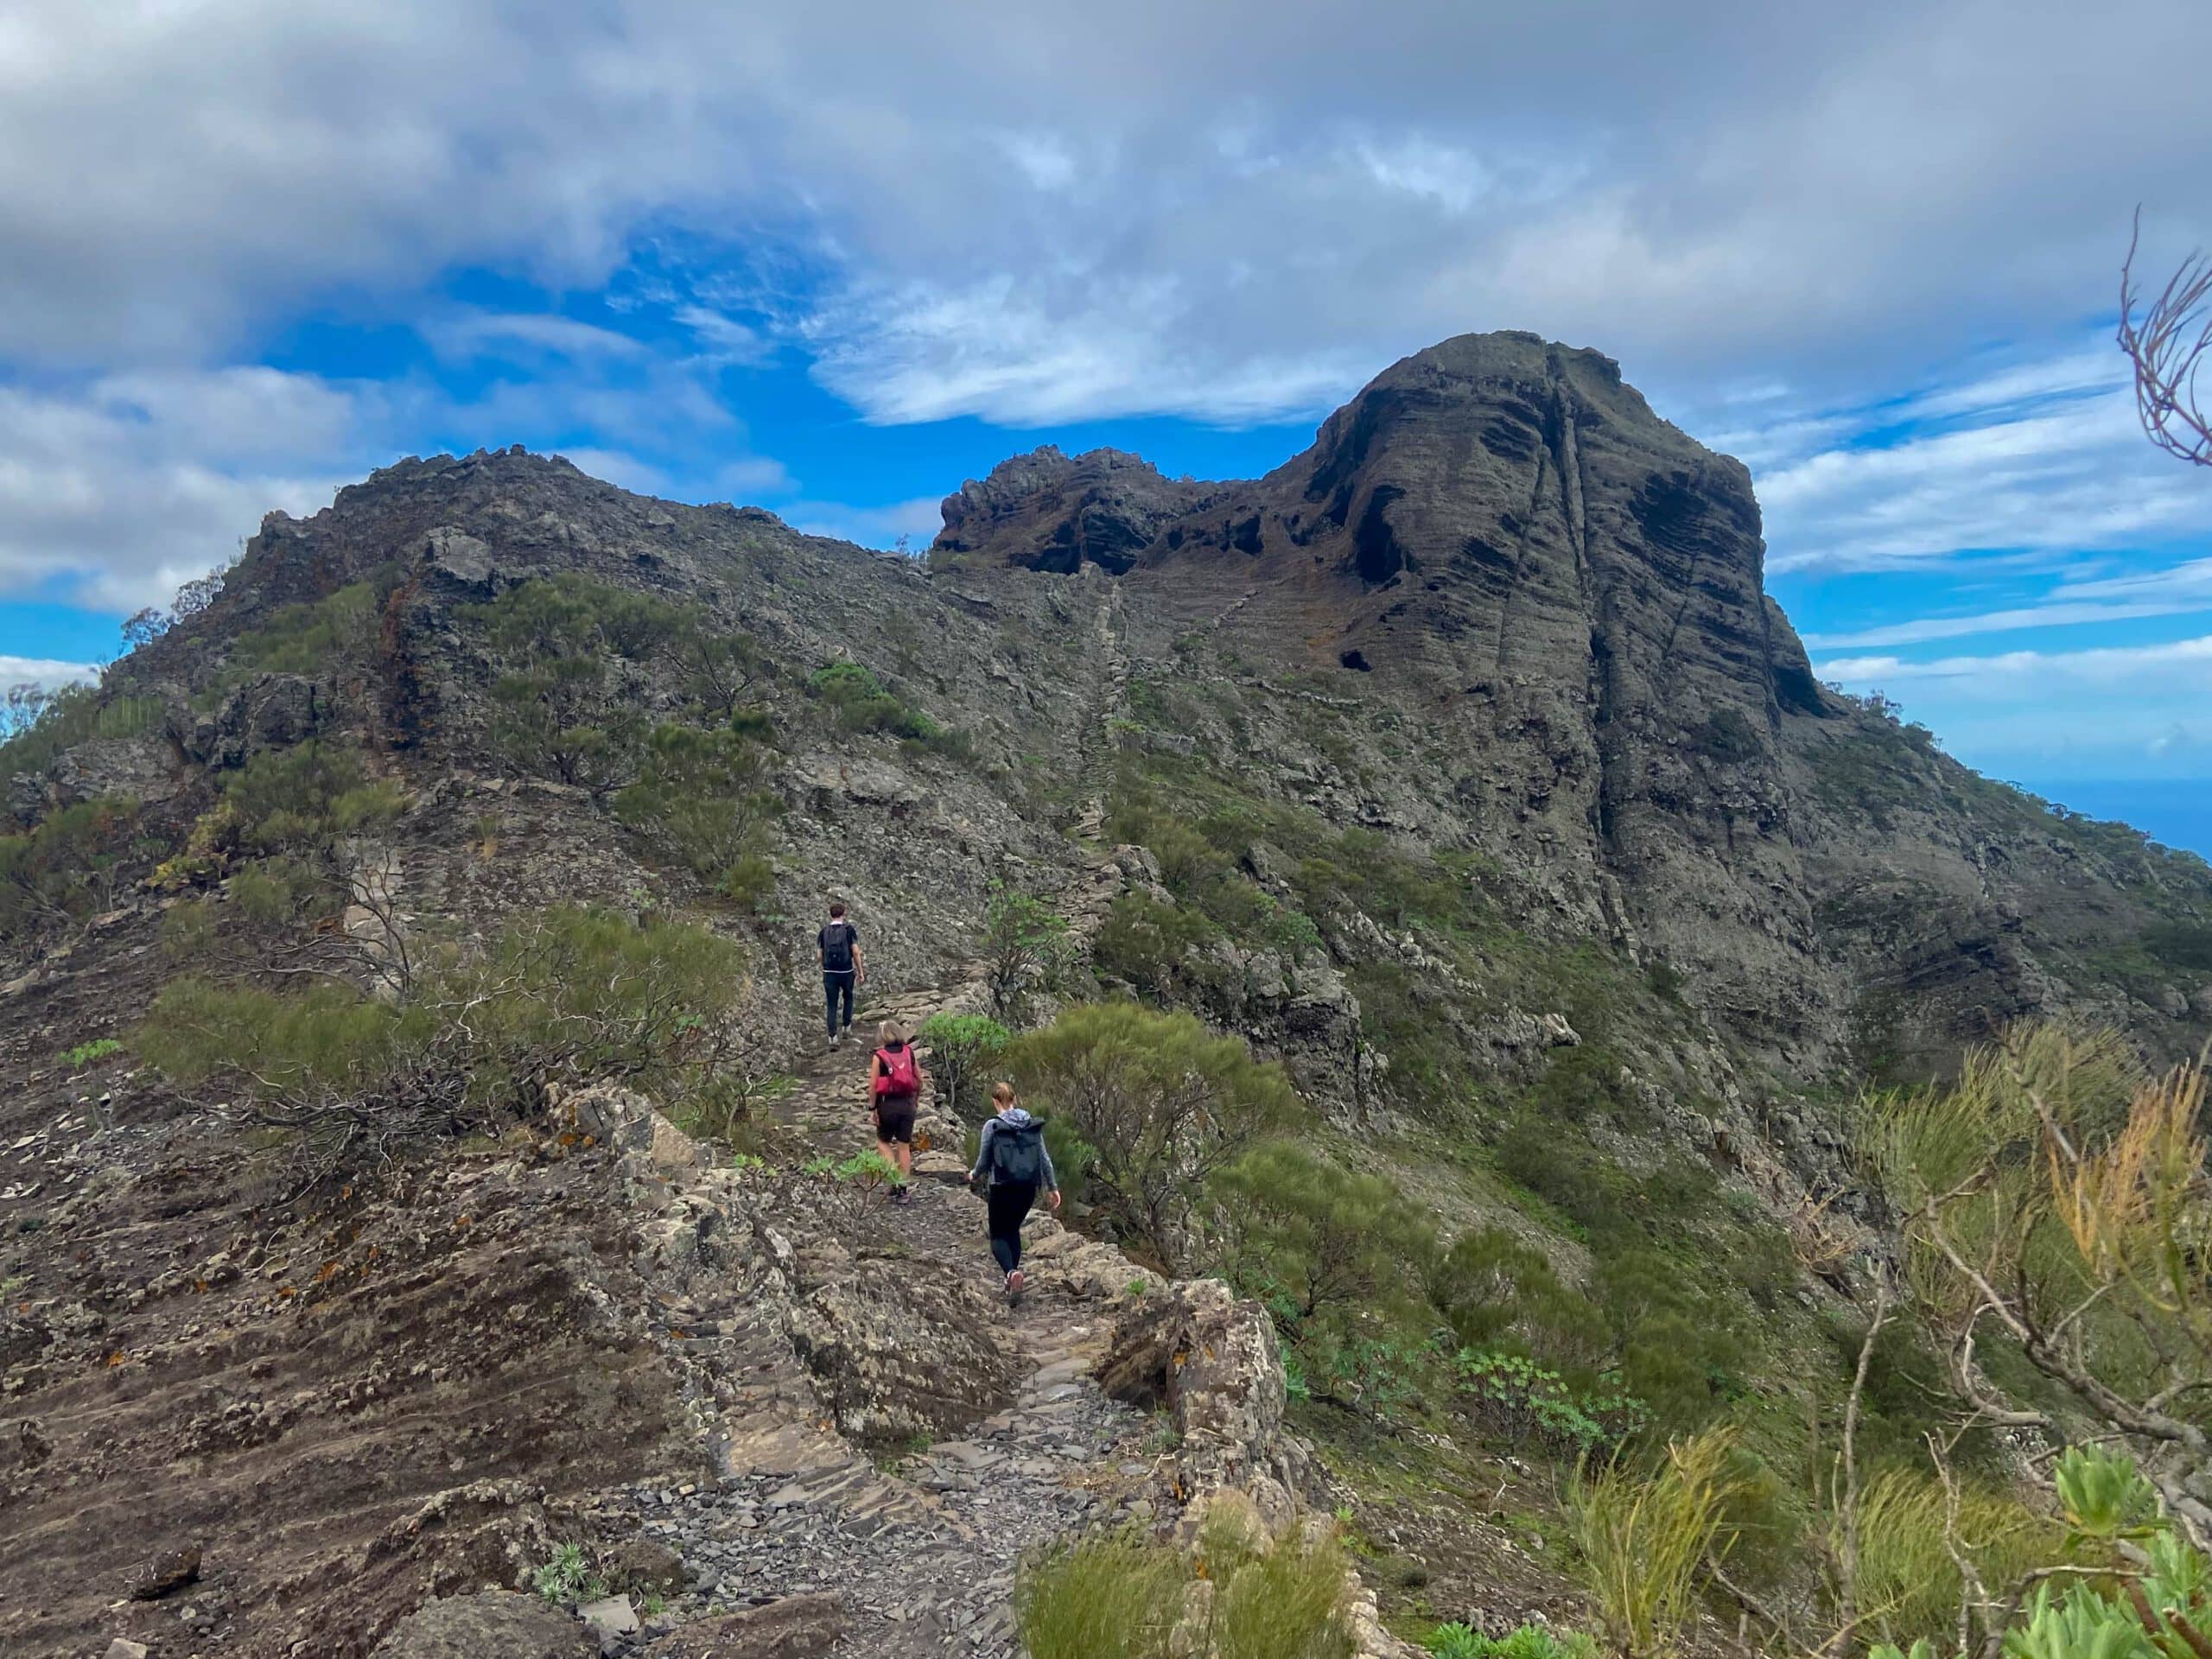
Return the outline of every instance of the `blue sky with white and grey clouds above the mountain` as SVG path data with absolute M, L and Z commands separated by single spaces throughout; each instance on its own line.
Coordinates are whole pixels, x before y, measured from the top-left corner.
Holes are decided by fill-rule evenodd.
M 1535 13 L 1535 15 L 1531 15 Z M 1823 677 L 2212 852 L 2212 473 L 2117 259 L 2212 241 L 2212 9 L 29 0 L 0 672 L 403 453 L 916 546 L 1037 442 L 1252 476 L 1396 356 L 1610 352 L 1750 462 Z

